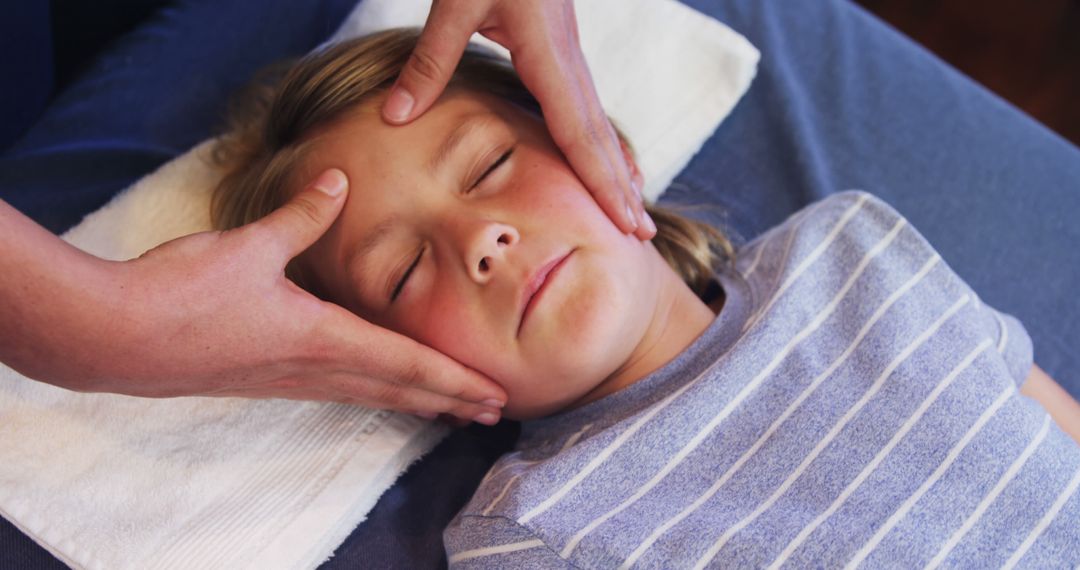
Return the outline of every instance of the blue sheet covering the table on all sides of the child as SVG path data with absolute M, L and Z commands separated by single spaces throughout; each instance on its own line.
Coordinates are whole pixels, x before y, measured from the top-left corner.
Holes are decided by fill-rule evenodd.
M 831 192 L 872 191 L 988 304 L 1017 316 L 1035 361 L 1080 394 L 1076 148 L 847 0 L 684 1 L 745 35 L 762 59 L 665 202 L 719 204 L 726 214 L 715 219 L 748 240 Z M 229 91 L 259 66 L 316 44 L 351 3 L 177 2 L 114 44 L 0 157 L 0 199 L 66 230 L 210 135 Z M 454 478 L 458 467 L 455 457 L 432 453 L 380 505 L 413 504 L 423 489 L 408 481 Z M 451 494 L 432 500 L 468 499 Z M 387 537 L 409 515 L 388 511 L 377 506 L 327 566 L 410 567 L 411 556 L 442 556 L 441 547 L 420 551 L 437 543 L 449 516 L 413 528 L 434 539 L 403 549 Z M 2 521 L 0 567 L 27 566 L 30 558 L 4 558 L 14 552 L 55 562 Z

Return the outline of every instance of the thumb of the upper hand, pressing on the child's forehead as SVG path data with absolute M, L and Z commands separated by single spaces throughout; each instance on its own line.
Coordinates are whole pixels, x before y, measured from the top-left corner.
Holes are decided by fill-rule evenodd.
M 416 49 L 382 105 L 386 121 L 407 123 L 423 114 L 443 94 L 469 38 L 484 21 L 486 4 L 470 0 L 431 5 Z

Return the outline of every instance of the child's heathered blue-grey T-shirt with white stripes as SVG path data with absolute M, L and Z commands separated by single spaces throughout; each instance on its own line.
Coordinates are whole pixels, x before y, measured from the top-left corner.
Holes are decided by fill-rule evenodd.
M 1032 348 L 864 192 L 718 275 L 632 386 L 535 422 L 445 532 L 455 568 L 1075 568 L 1080 446 Z

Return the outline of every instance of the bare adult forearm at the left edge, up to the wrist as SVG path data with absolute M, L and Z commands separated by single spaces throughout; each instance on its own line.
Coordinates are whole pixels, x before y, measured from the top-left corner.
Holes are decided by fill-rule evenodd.
M 112 329 L 111 262 L 67 244 L 0 201 L 0 362 L 71 390 L 90 390 Z

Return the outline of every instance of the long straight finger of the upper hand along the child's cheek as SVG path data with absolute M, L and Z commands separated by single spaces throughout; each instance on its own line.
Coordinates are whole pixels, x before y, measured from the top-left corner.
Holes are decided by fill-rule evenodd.
M 638 223 L 630 200 L 630 173 L 576 41 L 572 10 L 556 17 L 562 19 L 548 27 L 562 33 L 535 31 L 528 41 L 519 41 L 512 51 L 514 67 L 540 103 L 552 139 L 578 177 L 616 226 L 633 232 Z

